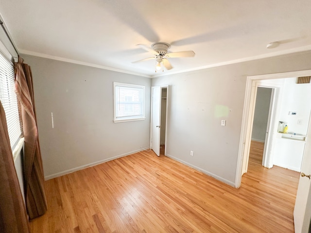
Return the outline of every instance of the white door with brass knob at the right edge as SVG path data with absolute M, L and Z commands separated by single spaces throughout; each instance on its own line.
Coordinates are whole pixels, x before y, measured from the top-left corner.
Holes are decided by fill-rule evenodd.
M 311 117 L 308 133 L 310 130 Z M 310 136 L 309 136 L 310 137 Z M 305 152 L 301 165 L 301 175 L 311 175 L 311 139 L 307 138 Z M 294 208 L 295 233 L 308 233 L 311 219 L 311 180 L 307 176 L 300 176 L 296 203 Z

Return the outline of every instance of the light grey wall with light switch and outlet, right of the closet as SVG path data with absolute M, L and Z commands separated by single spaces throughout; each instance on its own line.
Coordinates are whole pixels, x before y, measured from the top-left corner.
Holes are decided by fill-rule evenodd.
M 246 77 L 311 69 L 310 60 L 304 52 L 152 79 L 171 85 L 168 156 L 234 186 Z

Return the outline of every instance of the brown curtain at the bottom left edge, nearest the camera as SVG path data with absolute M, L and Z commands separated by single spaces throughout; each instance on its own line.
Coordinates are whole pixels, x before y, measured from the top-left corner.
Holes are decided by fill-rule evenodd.
M 0 232 L 30 233 L 14 166 L 4 109 L 0 102 Z

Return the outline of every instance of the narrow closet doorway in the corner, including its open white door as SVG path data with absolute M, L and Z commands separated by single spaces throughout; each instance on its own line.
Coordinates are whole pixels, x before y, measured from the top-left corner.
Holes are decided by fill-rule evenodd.
M 166 155 L 169 86 L 153 86 L 151 91 L 150 148 L 157 156 Z

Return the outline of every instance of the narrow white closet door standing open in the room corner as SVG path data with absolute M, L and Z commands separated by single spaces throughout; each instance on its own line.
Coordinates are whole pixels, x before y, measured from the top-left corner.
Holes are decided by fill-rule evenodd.
M 152 87 L 151 149 L 160 156 L 161 87 Z

